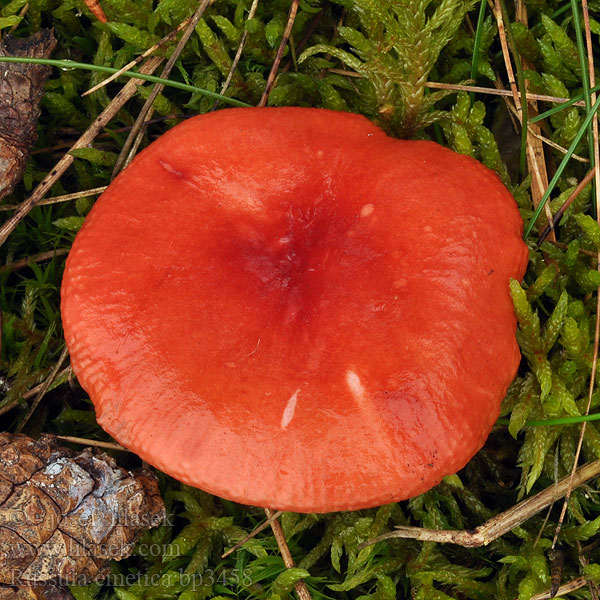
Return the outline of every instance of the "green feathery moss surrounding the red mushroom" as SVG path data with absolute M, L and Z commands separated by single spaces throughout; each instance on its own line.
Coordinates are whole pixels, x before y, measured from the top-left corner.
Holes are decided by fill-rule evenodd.
M 106 25 L 91 19 L 80 0 L 30 1 L 22 18 L 17 15 L 24 1 L 4 2 L 0 28 L 4 33 L 16 25 L 16 35 L 24 36 L 42 25 L 51 25 L 59 39 L 55 58 L 120 67 L 166 35 L 197 6 L 194 0 L 103 0 L 102 4 L 110 19 Z M 519 51 L 531 63 L 526 76 L 532 89 L 553 96 L 575 96 L 582 88 L 581 49 L 571 41 L 574 25 L 570 5 L 540 0 L 528 2 L 527 7 L 529 26 L 511 22 L 510 28 Z M 247 45 L 227 94 L 257 103 L 279 46 L 289 2 L 261 2 L 254 19 L 246 21 L 249 8 L 248 0 L 215 2 L 177 61 L 172 79 L 220 91 L 245 30 Z M 531 176 L 521 176 L 511 166 L 519 133 L 512 130 L 508 118 L 498 126 L 503 119 L 498 108 L 501 101 L 496 96 L 471 98 L 464 92 L 428 90 L 425 86 L 428 79 L 464 83 L 471 72 L 479 85 L 490 85 L 496 73 L 506 83 L 495 21 L 486 14 L 485 6 L 480 20 L 478 11 L 466 0 L 302 0 L 290 41 L 295 52 L 286 51 L 269 102 L 359 112 L 395 135 L 442 141 L 494 169 L 513 190 L 528 220 L 533 214 Z M 514 16 L 510 19 L 514 21 Z M 477 23 L 478 30 L 474 30 L 472 25 Z M 170 52 L 173 45 L 171 42 L 159 52 Z M 292 61 L 293 54 L 298 55 L 297 62 Z M 355 71 L 360 78 L 340 74 L 341 68 Z M 52 72 L 43 100 L 36 153 L 29 160 L 23 181 L 4 203 L 24 200 L 77 133 L 114 97 L 119 83 L 81 98 L 82 92 L 103 77 L 79 70 Z M 93 148 L 74 153 L 77 160 L 51 195 L 109 182 L 110 167 L 127 128 L 147 96 L 148 89 L 140 88 Z M 206 112 L 213 105 L 214 99 L 206 95 L 167 87 L 155 108 L 159 117 L 169 116 L 171 120 L 153 124 L 150 135 L 172 125 L 174 113 Z M 584 118 L 581 107 L 557 112 L 546 119 L 544 135 L 569 146 Z M 581 140 L 575 150 L 586 158 L 589 142 L 585 136 Z M 59 144 L 61 148 L 53 149 Z M 546 148 L 546 153 L 549 167 L 562 160 L 563 155 L 554 149 Z M 554 214 L 588 169 L 586 163 L 572 159 L 567 163 L 550 194 Z M 550 567 L 545 552 L 556 526 L 556 511 L 543 529 L 545 515 L 536 515 L 483 549 L 411 540 L 379 542 L 362 550 L 358 547 L 397 525 L 473 528 L 570 471 L 578 428 L 532 426 L 531 422 L 576 417 L 587 404 L 595 294 L 600 284 L 596 261 L 589 255 L 600 249 L 591 193 L 590 185 L 562 216 L 556 231 L 560 245 L 545 242 L 537 247 L 533 233 L 528 239 L 527 275 L 523 282 L 511 284 L 523 362 L 502 408 L 508 425 L 498 425 L 486 447 L 458 475 L 409 502 L 378 509 L 329 515 L 285 513 L 281 521 L 296 560 L 294 569 L 285 568 L 268 529 L 238 552 L 221 558 L 225 549 L 264 520 L 264 513 L 161 475 L 169 522 L 147 532 L 130 559 L 113 565 L 113 585 L 74 587 L 77 600 L 115 596 L 120 600 L 287 598 L 299 578 L 306 581 L 315 599 L 526 600 L 548 589 Z M 43 252 L 68 250 L 91 203 L 90 198 L 84 198 L 34 209 L 0 248 L 2 263 L 10 265 Z M 59 254 L 51 260 L 30 262 L 23 269 L 0 271 L 0 389 L 4 392 L 0 408 L 17 403 L 2 416 L 8 430 L 20 424 L 32 402 L 31 396 L 25 397 L 27 391 L 45 380 L 64 348 L 59 311 L 64 258 Z M 597 411 L 599 405 L 600 394 L 594 390 L 592 409 Z M 32 435 L 46 431 L 106 438 L 85 393 L 69 382 L 65 373 L 53 383 L 26 431 Z M 587 427 L 583 454 L 584 459 L 600 457 L 600 433 L 592 423 Z M 600 550 L 593 547 L 586 551 L 589 564 L 585 567 L 577 550 L 577 543 L 587 543 L 600 526 L 596 484 L 590 486 L 574 491 L 567 513 L 561 536 L 564 580 L 581 575 L 600 579 Z M 535 543 L 540 530 L 541 537 Z

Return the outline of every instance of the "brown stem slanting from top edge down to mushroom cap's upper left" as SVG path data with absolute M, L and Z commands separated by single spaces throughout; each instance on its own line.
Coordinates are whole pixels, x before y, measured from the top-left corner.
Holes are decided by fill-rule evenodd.
M 196 12 L 192 15 L 190 19 L 188 19 L 188 23 L 185 27 L 183 35 L 177 42 L 177 46 L 175 46 L 173 53 L 169 57 L 167 64 L 164 66 L 162 73 L 160 74 L 162 79 L 169 78 L 169 75 L 171 73 L 171 70 L 173 69 L 173 66 L 175 65 L 175 62 L 179 58 L 179 55 L 181 54 L 183 49 L 185 48 L 185 45 L 192 36 L 192 33 L 194 33 L 196 25 L 198 25 L 198 21 L 202 18 L 204 11 L 208 8 L 210 4 L 212 4 L 213 1 L 214 0 L 202 0 L 200 6 L 196 9 Z M 113 178 L 117 176 L 121 169 L 125 168 L 133 160 L 133 157 L 135 156 L 135 153 L 137 152 L 137 149 L 142 141 L 144 122 L 151 118 L 152 112 L 154 110 L 152 105 L 154 104 L 154 100 L 156 100 L 158 94 L 162 92 L 163 88 L 164 85 L 162 83 L 155 84 L 152 88 L 152 91 L 150 92 L 150 95 L 144 102 L 144 105 L 142 106 L 135 120 L 135 123 L 133 124 L 133 127 L 129 132 L 129 135 L 127 136 L 127 139 L 123 144 L 123 148 L 121 148 L 121 152 L 119 153 L 117 162 L 113 168 Z

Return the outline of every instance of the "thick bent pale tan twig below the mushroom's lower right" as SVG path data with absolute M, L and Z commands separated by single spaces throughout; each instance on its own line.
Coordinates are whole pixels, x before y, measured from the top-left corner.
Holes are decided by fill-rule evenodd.
M 579 487 L 588 479 L 600 474 L 600 460 L 588 463 L 575 472 L 572 479 L 573 488 Z M 458 544 L 465 548 L 479 548 L 508 533 L 540 510 L 556 502 L 563 496 L 571 484 L 571 476 L 567 475 L 560 481 L 542 490 L 535 496 L 527 498 L 507 511 L 492 517 L 483 525 L 473 530 L 437 530 L 421 527 L 399 526 L 395 531 L 386 533 L 361 544 L 358 548 L 370 546 L 381 540 L 391 538 L 411 538 L 423 542 L 438 542 L 442 544 Z

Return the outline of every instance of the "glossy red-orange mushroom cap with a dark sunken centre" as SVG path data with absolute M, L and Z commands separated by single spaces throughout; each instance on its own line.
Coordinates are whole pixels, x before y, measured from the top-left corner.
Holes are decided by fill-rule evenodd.
M 498 417 L 521 231 L 492 171 L 362 116 L 198 116 L 75 239 L 73 369 L 100 425 L 184 483 L 299 512 L 409 498 Z

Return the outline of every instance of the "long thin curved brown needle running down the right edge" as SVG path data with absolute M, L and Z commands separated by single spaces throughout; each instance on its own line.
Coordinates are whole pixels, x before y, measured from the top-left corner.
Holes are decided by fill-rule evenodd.
M 595 71 L 594 71 L 594 53 L 592 48 L 592 38 L 591 38 L 591 30 L 590 30 L 590 20 L 589 20 L 589 10 L 587 0 L 582 0 L 582 9 L 583 9 L 583 19 L 585 25 L 585 37 L 586 37 L 586 47 L 587 47 L 587 60 L 588 60 L 588 69 L 589 69 L 589 78 L 590 85 L 592 87 L 595 86 Z M 593 104 L 596 102 L 596 94 L 592 93 L 590 97 L 590 102 Z M 594 139 L 594 180 L 596 183 L 596 215 L 597 219 L 600 223 L 600 150 L 598 148 L 598 114 L 596 113 L 592 119 L 592 132 Z M 598 253 L 598 269 L 600 269 L 600 253 Z M 594 328 L 594 356 L 592 358 L 592 373 L 590 375 L 590 385 L 588 388 L 588 401 L 585 408 L 585 414 L 588 415 L 590 412 L 590 407 L 592 406 L 592 396 L 594 393 L 594 387 L 596 384 L 596 369 L 598 366 L 598 347 L 600 346 L 600 287 L 596 290 L 596 326 Z M 571 471 L 571 478 L 575 477 L 575 470 L 577 469 L 577 463 L 579 462 L 579 456 L 581 454 L 581 448 L 583 446 L 583 438 L 585 437 L 585 431 L 587 428 L 587 422 L 584 421 L 581 424 L 581 429 L 579 431 L 579 439 L 577 440 L 577 448 L 575 450 L 575 457 L 573 458 L 573 469 Z M 560 530 L 562 528 L 562 524 L 565 518 L 565 514 L 567 512 L 567 506 L 569 504 L 569 497 L 571 495 L 572 486 L 569 486 L 567 493 L 565 494 L 565 500 L 563 502 L 562 509 L 560 511 L 560 516 L 558 517 L 558 523 L 556 525 L 556 532 L 554 533 L 554 539 L 552 540 L 552 547 L 556 545 L 558 541 L 558 536 L 560 534 Z

